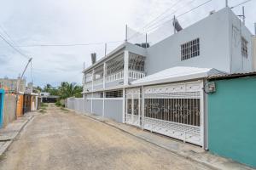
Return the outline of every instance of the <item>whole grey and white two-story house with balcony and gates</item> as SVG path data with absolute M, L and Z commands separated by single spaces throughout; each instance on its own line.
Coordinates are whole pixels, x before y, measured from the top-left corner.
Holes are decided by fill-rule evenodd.
M 206 77 L 253 67 L 252 33 L 223 8 L 151 47 L 124 42 L 84 69 L 84 111 L 207 149 Z

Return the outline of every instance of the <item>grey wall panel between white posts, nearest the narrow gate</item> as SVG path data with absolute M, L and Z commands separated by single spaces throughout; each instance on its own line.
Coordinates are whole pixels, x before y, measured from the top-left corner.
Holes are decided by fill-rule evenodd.
M 123 121 L 123 100 L 106 99 L 105 100 L 105 117 L 113 119 L 116 122 Z

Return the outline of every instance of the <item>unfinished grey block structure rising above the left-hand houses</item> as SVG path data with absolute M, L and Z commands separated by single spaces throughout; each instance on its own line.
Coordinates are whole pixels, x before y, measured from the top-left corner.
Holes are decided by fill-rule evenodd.
M 3 88 L 6 93 L 15 93 L 17 91 L 17 82 L 20 82 L 19 92 L 24 93 L 26 90 L 26 80 L 25 79 L 9 79 L 0 78 L 0 88 Z

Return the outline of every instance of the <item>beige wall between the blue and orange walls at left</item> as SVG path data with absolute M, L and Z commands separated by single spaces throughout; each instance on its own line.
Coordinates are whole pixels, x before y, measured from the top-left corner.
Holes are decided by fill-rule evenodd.
M 3 127 L 6 127 L 9 124 L 9 122 L 13 122 L 15 120 L 15 107 L 15 95 L 5 94 L 3 103 Z

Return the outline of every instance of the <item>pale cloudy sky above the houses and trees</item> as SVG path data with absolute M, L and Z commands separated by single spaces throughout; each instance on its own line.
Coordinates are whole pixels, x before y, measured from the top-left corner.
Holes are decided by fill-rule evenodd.
M 229 0 L 229 5 L 244 1 Z M 41 87 L 47 83 L 81 84 L 83 67 L 91 64 L 90 54 L 96 52 L 100 59 L 105 42 L 107 53 L 124 42 L 125 25 L 131 42 L 143 41 L 146 32 L 148 42 L 157 42 L 172 35 L 166 28 L 173 30 L 168 20 L 174 14 L 183 14 L 204 2 L 207 0 L 0 0 L 0 35 L 22 54 L 32 57 L 26 82 Z M 185 28 L 224 6 L 225 0 L 212 0 L 177 20 Z M 254 33 L 256 0 L 244 6 L 246 26 Z M 241 14 L 241 6 L 232 10 Z M 142 34 L 135 34 L 136 31 Z M 42 46 L 56 44 L 87 45 Z M 27 60 L 0 39 L 0 77 L 18 77 Z

